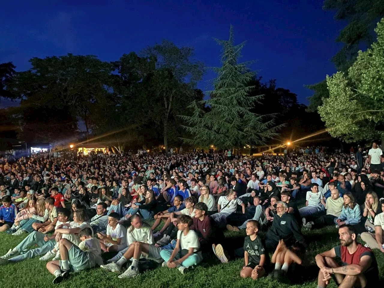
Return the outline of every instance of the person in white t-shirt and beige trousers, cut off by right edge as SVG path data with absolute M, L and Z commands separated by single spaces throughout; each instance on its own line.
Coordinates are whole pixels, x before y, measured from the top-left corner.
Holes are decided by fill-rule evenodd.
M 375 233 L 363 232 L 361 233 L 361 240 L 366 242 L 364 247 L 379 249 L 384 253 L 384 199 L 381 199 L 380 206 L 382 213 L 377 214 L 374 219 Z

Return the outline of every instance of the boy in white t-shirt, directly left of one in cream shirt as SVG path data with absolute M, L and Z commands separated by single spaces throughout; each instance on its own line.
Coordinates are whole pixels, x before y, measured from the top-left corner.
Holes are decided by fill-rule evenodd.
M 107 232 L 98 232 L 100 247 L 103 252 L 118 252 L 127 247 L 127 229 L 119 223 L 116 212 L 108 215 Z

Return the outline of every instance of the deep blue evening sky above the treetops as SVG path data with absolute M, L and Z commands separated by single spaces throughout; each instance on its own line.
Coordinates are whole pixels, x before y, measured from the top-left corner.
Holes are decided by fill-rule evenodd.
M 335 38 L 344 23 L 322 5 L 322 0 L 3 1 L 0 63 L 13 61 L 21 71 L 30 68 L 33 56 L 66 53 L 113 61 L 168 39 L 194 46 L 197 60 L 218 66 L 220 46 L 213 38 L 228 39 L 232 24 L 235 41 L 247 40 L 242 60 L 257 60 L 252 68 L 265 81 L 276 78 L 307 104 L 312 92 L 303 85 L 334 73 L 330 59 L 341 47 Z M 202 81 L 199 88 L 206 85 Z M 10 104 L 2 99 L 3 107 Z

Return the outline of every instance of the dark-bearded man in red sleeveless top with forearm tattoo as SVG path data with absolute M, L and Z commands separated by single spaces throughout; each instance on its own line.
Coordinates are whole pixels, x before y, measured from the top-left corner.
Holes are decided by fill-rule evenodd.
M 356 241 L 357 232 L 352 225 L 339 227 L 340 245 L 316 255 L 316 264 L 320 268 L 318 288 L 325 288 L 331 278 L 338 287 L 373 287 L 379 283 L 379 269 L 371 249 Z M 342 266 L 334 260 L 341 258 Z

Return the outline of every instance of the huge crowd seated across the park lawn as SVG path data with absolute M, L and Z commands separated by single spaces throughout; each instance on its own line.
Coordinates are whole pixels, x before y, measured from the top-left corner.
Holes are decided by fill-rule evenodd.
M 243 257 L 242 278 L 295 283 L 308 264 L 302 230 L 333 225 L 340 245 L 316 256 L 318 288 L 331 278 L 339 287 L 368 287 L 379 277 L 372 249 L 384 252 L 383 167 L 376 142 L 366 155 L 361 147 L 315 147 L 262 157 L 1 158 L 0 232 L 28 235 L 0 265 L 39 257 L 60 283 L 96 266 L 126 278 L 148 262 L 184 274 L 211 256 Z M 236 243 L 224 230 L 247 236 Z

